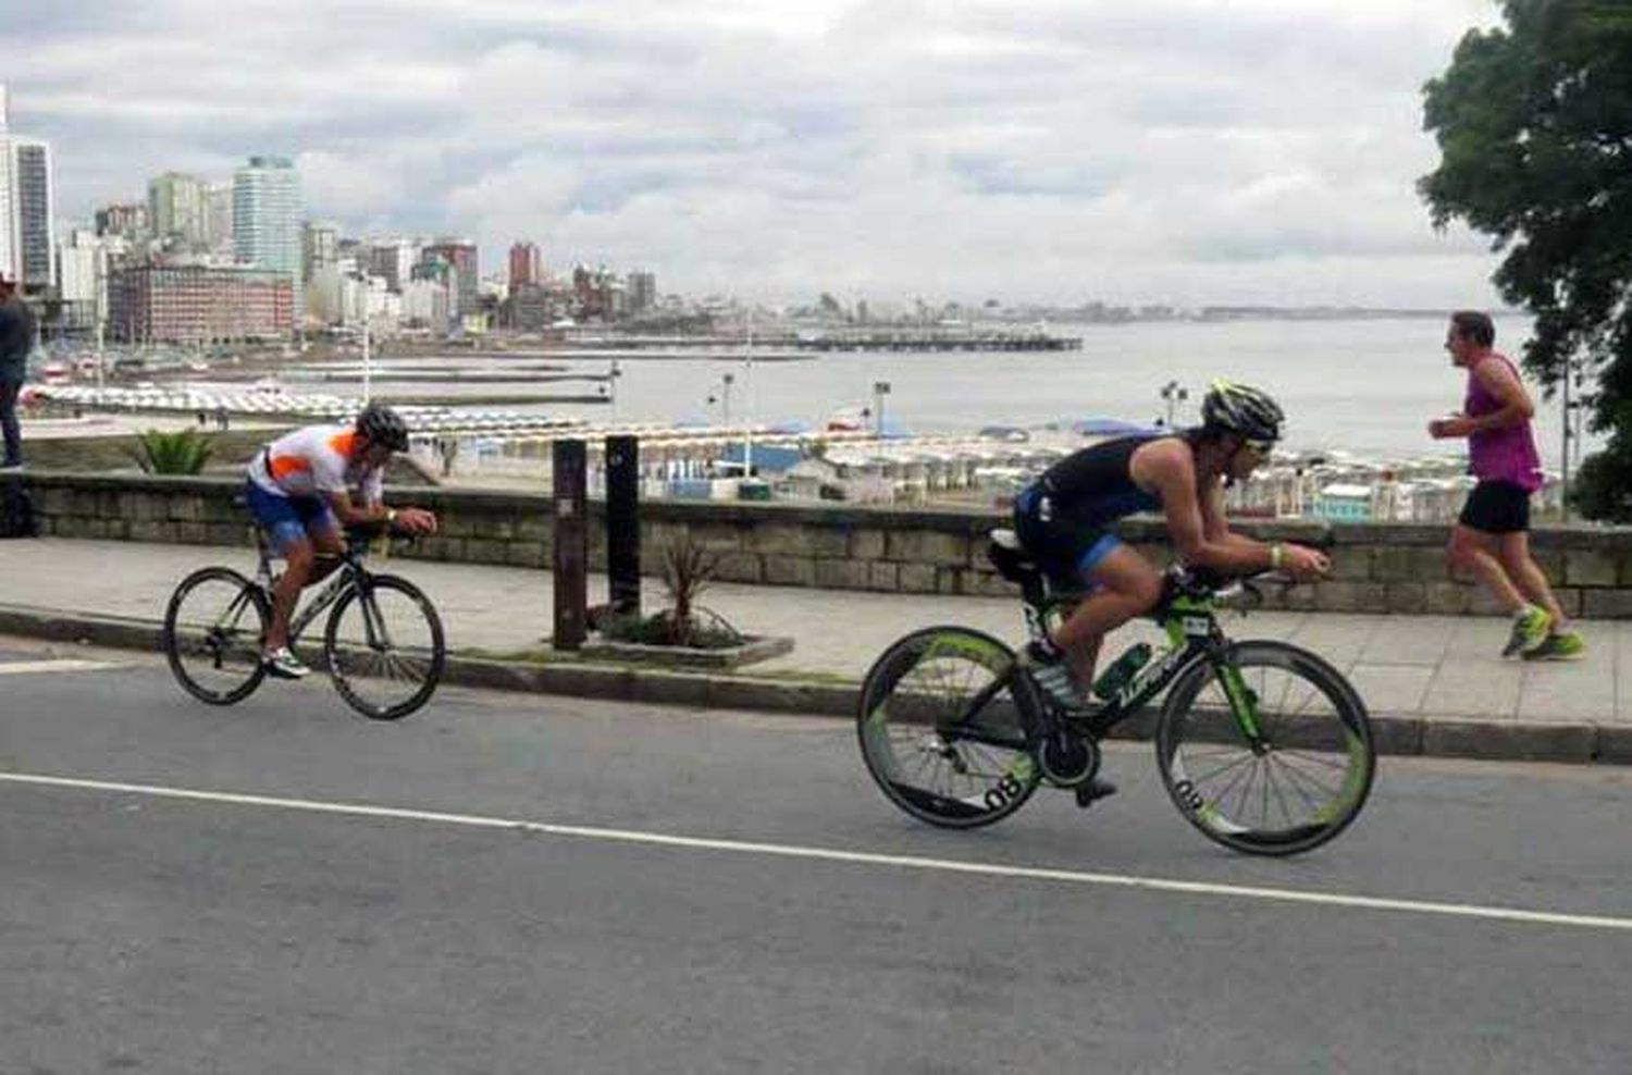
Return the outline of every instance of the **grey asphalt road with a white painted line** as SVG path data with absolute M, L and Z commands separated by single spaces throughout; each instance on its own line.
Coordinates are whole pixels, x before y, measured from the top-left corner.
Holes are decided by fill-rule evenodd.
M 1289 861 L 1108 772 L 948 834 L 842 721 L 0 639 L 0 1075 L 1625 1070 L 1632 772 L 1387 759 Z

